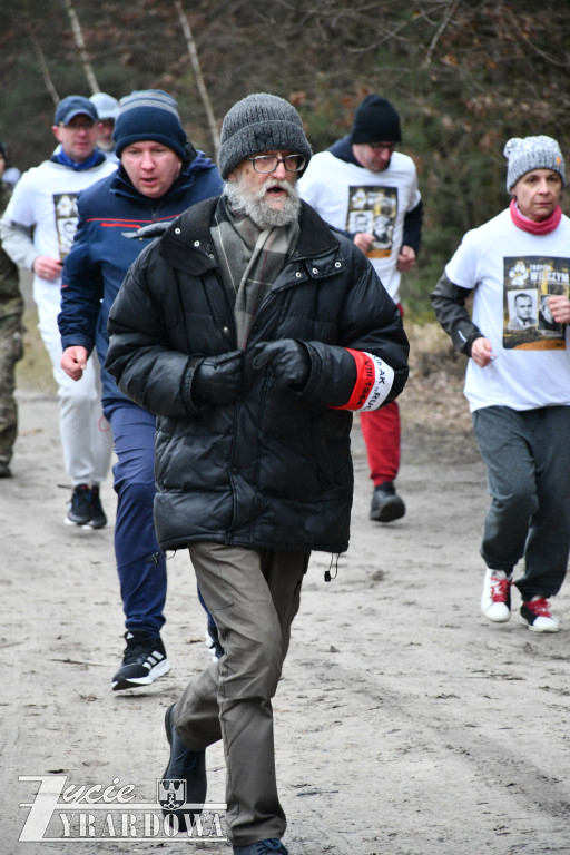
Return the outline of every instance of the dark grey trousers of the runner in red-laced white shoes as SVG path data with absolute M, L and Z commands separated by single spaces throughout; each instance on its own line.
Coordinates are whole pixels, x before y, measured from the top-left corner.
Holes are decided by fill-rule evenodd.
M 481 554 L 508 573 L 524 557 L 522 599 L 552 597 L 570 551 L 570 406 L 485 406 L 473 425 L 492 497 Z

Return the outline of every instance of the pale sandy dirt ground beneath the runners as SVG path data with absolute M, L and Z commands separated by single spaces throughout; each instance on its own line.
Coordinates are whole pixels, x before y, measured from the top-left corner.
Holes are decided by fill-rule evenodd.
M 331 583 L 328 557 L 312 560 L 274 705 L 291 855 L 570 853 L 570 589 L 556 600 L 558 635 L 529 632 L 517 612 L 503 626 L 480 613 L 485 476 L 460 392 L 453 412 L 439 403 L 445 383 L 433 374 L 402 399 L 403 520 L 368 521 L 354 431 L 351 549 Z M 137 803 L 156 802 L 165 709 L 209 656 L 178 553 L 164 630 L 173 669 L 146 690 L 110 690 L 124 646 L 112 488 L 107 529 L 65 525 L 57 400 L 24 390 L 19 405 L 14 478 L 0 482 L 0 852 L 228 853 L 180 836 L 19 842 L 20 805 L 39 786 L 22 776 L 115 780 L 132 785 Z M 215 746 L 209 802 L 224 802 L 224 774 Z

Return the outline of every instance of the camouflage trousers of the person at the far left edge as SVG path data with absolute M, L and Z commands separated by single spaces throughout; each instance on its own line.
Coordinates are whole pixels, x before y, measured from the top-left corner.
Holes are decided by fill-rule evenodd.
M 23 356 L 20 315 L 0 317 L 0 463 L 9 463 L 18 434 L 16 363 Z

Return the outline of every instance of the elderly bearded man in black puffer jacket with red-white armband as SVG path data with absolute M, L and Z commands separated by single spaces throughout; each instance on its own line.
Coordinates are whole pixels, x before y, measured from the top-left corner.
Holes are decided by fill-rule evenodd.
M 352 413 L 407 377 L 396 306 L 365 256 L 299 200 L 301 117 L 252 95 L 222 128 L 219 198 L 189 208 L 132 265 L 107 367 L 156 413 L 155 521 L 188 548 L 225 655 L 166 712 L 186 803 L 224 740 L 235 855 L 286 855 L 272 698 L 312 550 L 348 546 Z M 197 808 L 170 812 L 185 829 Z

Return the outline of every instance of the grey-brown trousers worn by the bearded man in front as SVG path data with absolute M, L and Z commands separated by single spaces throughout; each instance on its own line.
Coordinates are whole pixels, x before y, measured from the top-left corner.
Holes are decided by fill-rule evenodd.
M 229 841 L 281 838 L 287 823 L 277 795 L 272 698 L 311 553 L 210 542 L 191 543 L 189 552 L 225 655 L 184 690 L 176 731 L 191 750 L 224 741 Z

